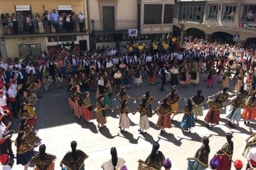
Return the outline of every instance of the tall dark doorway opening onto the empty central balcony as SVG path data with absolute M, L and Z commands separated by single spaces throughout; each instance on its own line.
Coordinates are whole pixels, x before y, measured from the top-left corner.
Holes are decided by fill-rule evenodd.
M 102 7 L 103 15 L 103 30 L 109 31 L 114 30 L 114 7 L 105 6 Z

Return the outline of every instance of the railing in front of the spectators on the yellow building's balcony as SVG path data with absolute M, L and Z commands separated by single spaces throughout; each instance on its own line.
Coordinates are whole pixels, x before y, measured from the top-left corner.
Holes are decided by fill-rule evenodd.
M 56 33 L 87 33 L 85 22 L 42 22 L 36 21 L 28 24 L 26 22 L 1 22 L 2 33 L 8 35 L 27 34 L 56 34 Z

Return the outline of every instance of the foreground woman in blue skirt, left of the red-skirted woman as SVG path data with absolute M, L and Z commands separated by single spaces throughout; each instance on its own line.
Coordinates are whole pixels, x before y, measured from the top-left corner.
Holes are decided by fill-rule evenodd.
M 195 153 L 194 157 L 189 157 L 187 170 L 205 170 L 208 168 L 208 156 L 210 153 L 209 139 L 208 137 L 202 138 L 202 147 L 200 147 Z

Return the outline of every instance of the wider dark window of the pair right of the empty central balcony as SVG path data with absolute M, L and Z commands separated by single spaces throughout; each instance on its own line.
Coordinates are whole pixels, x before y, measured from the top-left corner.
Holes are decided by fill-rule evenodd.
M 162 5 L 144 5 L 144 24 L 159 24 L 162 20 Z

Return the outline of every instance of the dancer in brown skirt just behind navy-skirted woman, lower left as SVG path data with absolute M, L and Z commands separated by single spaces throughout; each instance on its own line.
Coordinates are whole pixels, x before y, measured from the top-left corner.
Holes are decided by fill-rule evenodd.
M 35 132 L 32 131 L 32 128 L 29 127 L 26 123 L 27 119 L 22 118 L 18 127 L 18 132 L 25 131 L 26 136 L 24 139 L 27 140 L 28 144 L 33 146 L 36 142 L 40 142 L 41 139 L 37 136 Z

